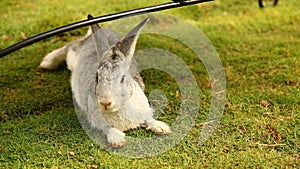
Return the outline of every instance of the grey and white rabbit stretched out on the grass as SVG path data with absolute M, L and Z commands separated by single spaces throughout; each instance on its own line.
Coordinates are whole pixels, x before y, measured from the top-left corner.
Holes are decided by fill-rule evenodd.
M 93 18 L 88 15 L 88 19 Z M 101 130 L 112 147 L 126 144 L 125 131 L 145 127 L 156 134 L 170 127 L 153 118 L 145 85 L 133 58 L 143 20 L 123 39 L 113 30 L 93 24 L 87 34 L 47 54 L 41 69 L 54 70 L 66 61 L 79 108 L 92 128 Z

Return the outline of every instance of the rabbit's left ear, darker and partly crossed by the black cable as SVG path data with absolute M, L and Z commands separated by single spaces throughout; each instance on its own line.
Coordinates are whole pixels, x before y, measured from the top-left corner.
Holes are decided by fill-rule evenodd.
M 93 19 L 92 15 L 88 15 L 88 19 Z M 98 24 L 91 25 L 92 37 L 94 39 L 94 45 L 97 51 L 98 58 L 102 58 L 104 53 L 109 49 L 109 42 L 104 30 Z

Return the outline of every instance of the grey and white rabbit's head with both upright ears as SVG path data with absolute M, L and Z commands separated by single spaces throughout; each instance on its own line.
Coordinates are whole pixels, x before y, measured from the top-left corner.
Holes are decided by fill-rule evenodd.
M 138 34 L 145 19 L 132 29 L 122 40 L 111 44 L 112 31 L 92 25 L 94 44 L 100 58 L 96 75 L 96 97 L 102 112 L 118 111 L 136 90 L 133 77 L 129 73 Z

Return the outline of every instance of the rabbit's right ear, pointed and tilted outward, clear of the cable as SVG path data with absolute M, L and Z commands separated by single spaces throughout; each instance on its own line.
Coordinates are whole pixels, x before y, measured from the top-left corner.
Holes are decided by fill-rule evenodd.
M 137 43 L 138 35 L 141 28 L 149 21 L 149 18 L 143 20 L 135 28 L 133 28 L 121 41 L 120 50 L 125 54 L 125 65 L 130 66 L 132 56 L 134 54 L 135 46 Z

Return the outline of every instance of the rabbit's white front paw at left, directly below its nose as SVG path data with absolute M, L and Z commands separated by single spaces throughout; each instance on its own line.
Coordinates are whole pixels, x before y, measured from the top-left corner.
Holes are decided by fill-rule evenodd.
M 125 133 L 116 128 L 112 128 L 107 134 L 107 142 L 112 147 L 122 147 L 126 143 Z

